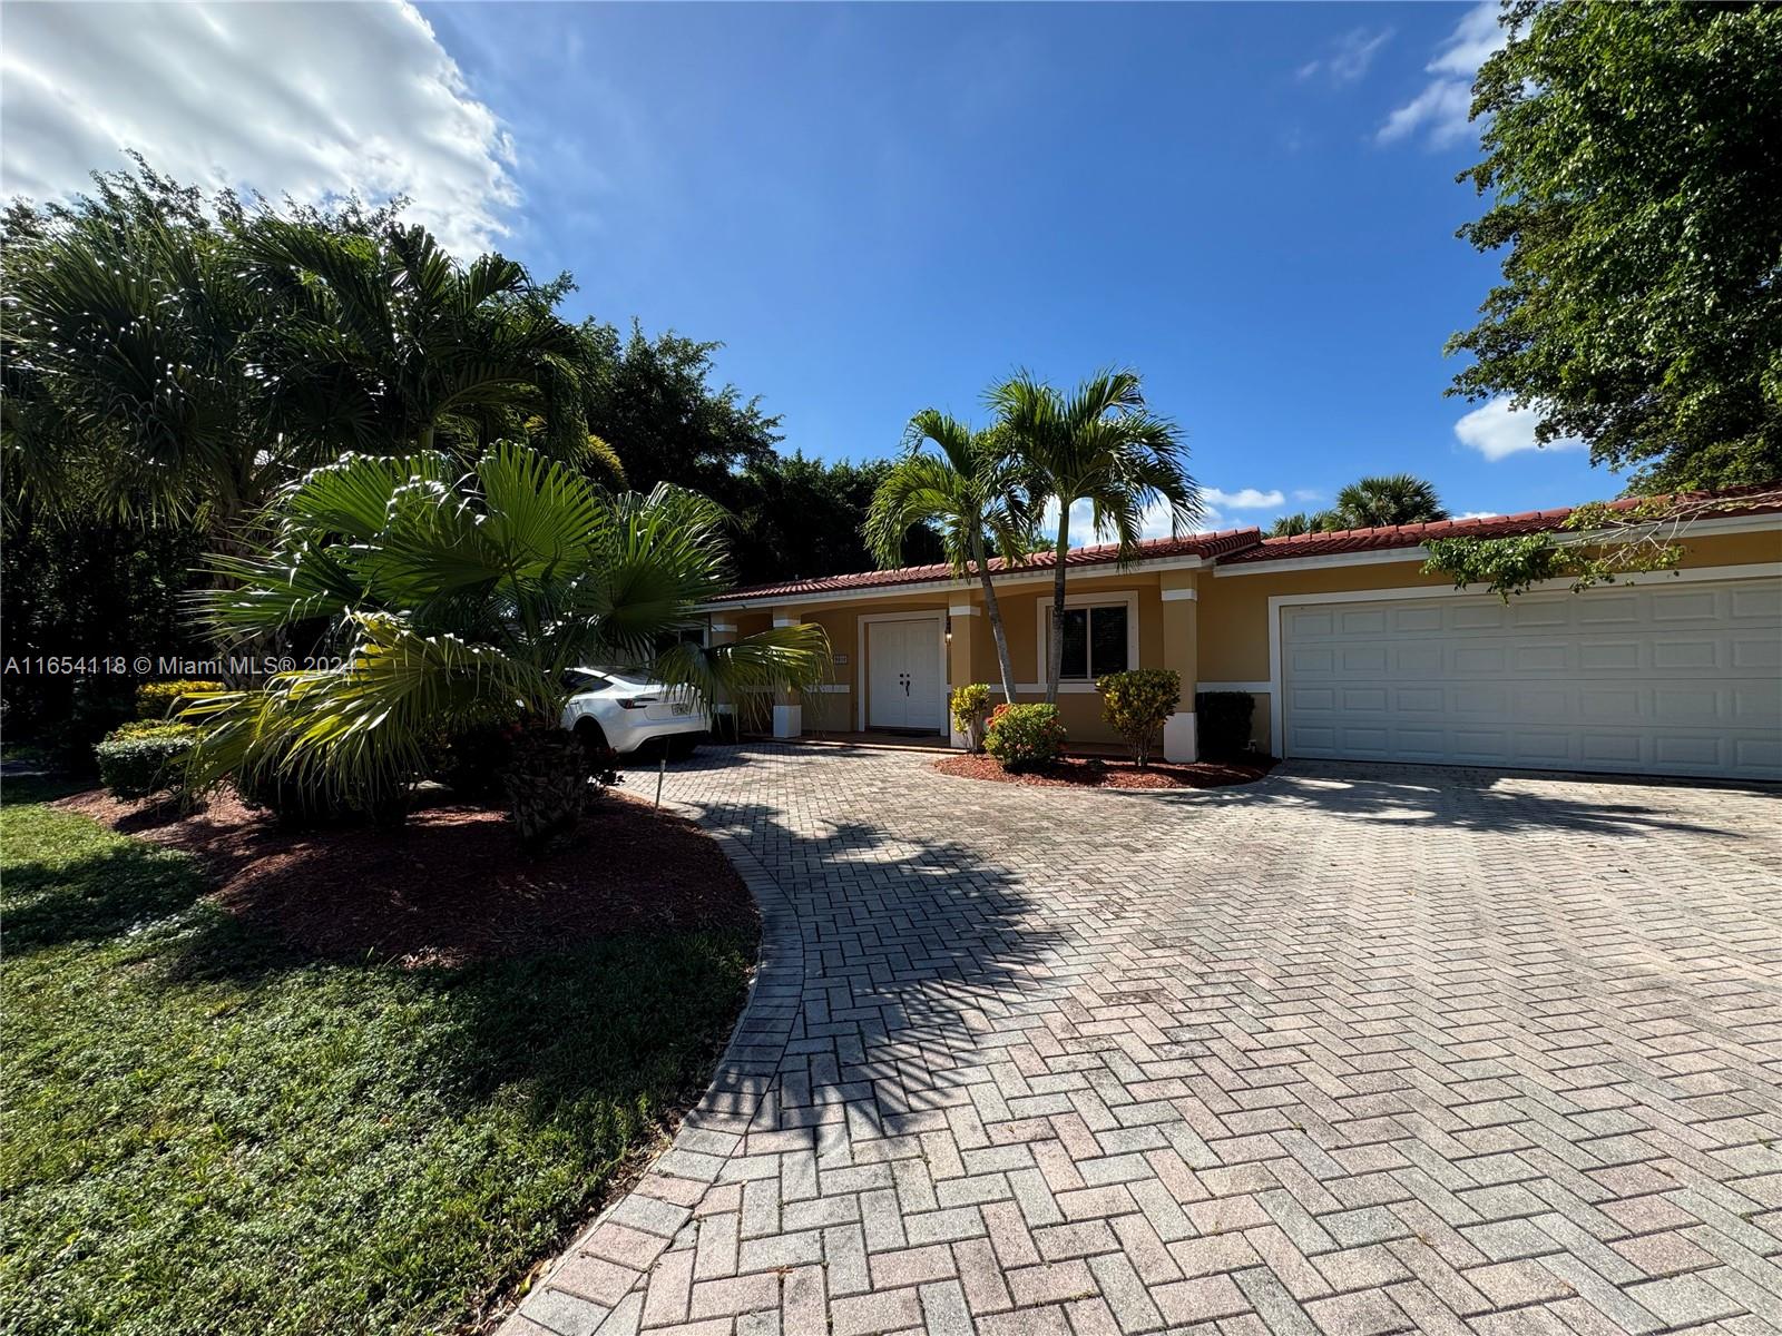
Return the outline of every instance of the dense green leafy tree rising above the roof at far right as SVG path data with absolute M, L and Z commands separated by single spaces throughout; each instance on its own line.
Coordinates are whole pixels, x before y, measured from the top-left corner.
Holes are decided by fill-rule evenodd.
M 1629 492 L 1782 476 L 1782 7 L 1506 5 L 1479 69 L 1490 208 L 1459 235 L 1504 251 L 1468 397 L 1540 411 L 1541 442 L 1636 468 Z

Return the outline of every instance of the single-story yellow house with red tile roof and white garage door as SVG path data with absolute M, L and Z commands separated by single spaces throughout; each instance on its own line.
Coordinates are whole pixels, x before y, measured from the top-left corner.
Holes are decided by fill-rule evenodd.
M 1557 529 L 1570 511 L 1263 538 L 1228 529 L 1069 556 L 1059 705 L 1073 741 L 1112 741 L 1094 679 L 1174 668 L 1169 759 L 1196 757 L 1196 691 L 1255 697 L 1281 757 L 1782 778 L 1782 504 L 1693 522 L 1680 570 L 1508 604 L 1424 574 L 1422 543 Z M 1050 554 L 996 563 L 1021 700 L 1044 695 Z M 977 579 L 907 566 L 736 590 L 722 641 L 816 622 L 830 680 L 773 705 L 773 732 L 952 736 L 946 697 L 1001 695 Z

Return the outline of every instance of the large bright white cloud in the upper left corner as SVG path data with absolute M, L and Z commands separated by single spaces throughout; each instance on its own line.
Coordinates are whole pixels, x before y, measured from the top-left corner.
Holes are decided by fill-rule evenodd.
M 506 232 L 513 146 L 413 5 L 12 5 L 0 194 L 66 198 L 123 150 L 182 183 L 406 194 L 454 253 Z

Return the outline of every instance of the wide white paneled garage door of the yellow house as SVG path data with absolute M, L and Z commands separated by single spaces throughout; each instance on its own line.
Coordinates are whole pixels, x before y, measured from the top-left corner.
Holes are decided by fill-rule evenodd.
M 1285 604 L 1290 757 L 1782 778 L 1782 579 Z

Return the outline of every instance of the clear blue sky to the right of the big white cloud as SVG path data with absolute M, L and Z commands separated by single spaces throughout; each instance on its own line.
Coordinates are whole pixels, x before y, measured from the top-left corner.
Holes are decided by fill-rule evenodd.
M 1484 458 L 1442 394 L 1495 274 L 1454 237 L 1465 7 L 424 12 L 513 135 L 506 244 L 577 310 L 723 338 L 788 449 L 1123 363 L 1203 485 L 1283 493 L 1228 522 L 1379 470 L 1456 513 L 1618 490 L 1581 451 Z

